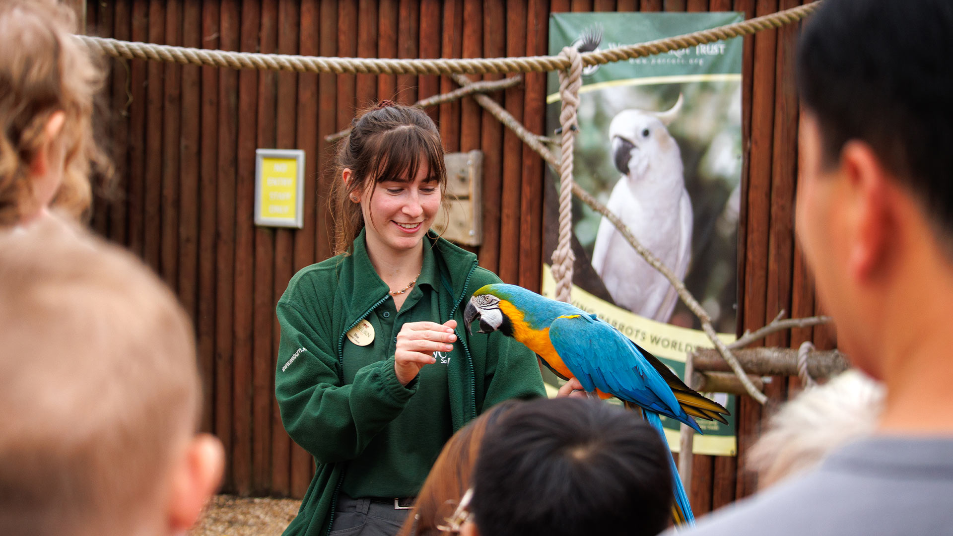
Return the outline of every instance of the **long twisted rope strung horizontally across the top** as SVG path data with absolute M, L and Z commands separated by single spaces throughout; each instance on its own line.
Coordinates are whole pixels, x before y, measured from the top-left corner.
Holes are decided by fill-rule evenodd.
M 816 10 L 820 3 L 821 0 L 711 30 L 695 31 L 605 51 L 586 52 L 582 54 L 582 65 L 598 65 L 662 52 L 677 51 L 705 43 L 714 43 L 748 35 L 756 31 L 781 28 L 781 26 L 801 20 Z M 569 58 L 563 54 L 557 56 L 472 59 L 350 58 L 213 51 L 119 41 L 89 35 L 76 35 L 75 37 L 86 43 L 92 51 L 114 57 L 259 71 L 334 72 L 336 74 L 488 74 L 562 71 L 571 67 Z

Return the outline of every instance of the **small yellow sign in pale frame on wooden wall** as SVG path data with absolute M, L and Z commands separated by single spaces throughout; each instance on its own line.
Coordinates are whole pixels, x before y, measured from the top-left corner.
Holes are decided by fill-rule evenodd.
M 301 228 L 304 152 L 258 149 L 255 153 L 255 223 Z

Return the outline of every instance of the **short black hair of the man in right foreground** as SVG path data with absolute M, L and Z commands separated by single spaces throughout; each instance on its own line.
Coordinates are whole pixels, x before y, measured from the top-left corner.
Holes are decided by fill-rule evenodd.
M 798 78 L 825 164 L 850 140 L 868 144 L 953 256 L 951 29 L 949 0 L 824 0 L 801 34 Z

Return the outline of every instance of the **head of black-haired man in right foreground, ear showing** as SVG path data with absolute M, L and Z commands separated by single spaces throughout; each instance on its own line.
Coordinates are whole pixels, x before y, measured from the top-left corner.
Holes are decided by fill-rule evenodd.
M 951 32 L 950 0 L 824 0 L 801 35 L 798 234 L 839 345 L 879 379 L 891 326 L 924 309 L 904 300 L 953 270 Z

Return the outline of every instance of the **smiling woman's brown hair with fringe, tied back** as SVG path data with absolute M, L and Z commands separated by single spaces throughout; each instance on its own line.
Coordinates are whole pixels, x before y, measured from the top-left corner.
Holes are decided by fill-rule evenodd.
M 447 184 L 443 146 L 436 124 L 427 113 L 384 100 L 355 119 L 351 134 L 337 150 L 332 182 L 335 254 L 348 253 L 364 227 L 360 205 L 351 196 L 372 191 L 376 182 L 386 179 L 413 180 L 421 165 L 426 165 L 439 181 L 443 194 Z M 345 169 L 351 170 L 347 183 L 341 178 Z M 370 196 L 365 200 L 369 201 Z

